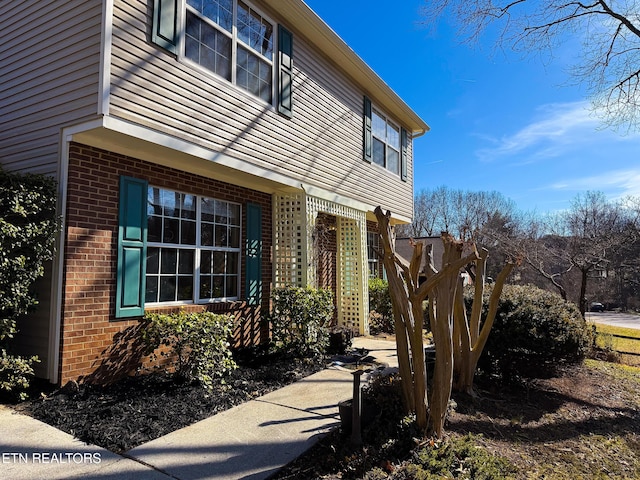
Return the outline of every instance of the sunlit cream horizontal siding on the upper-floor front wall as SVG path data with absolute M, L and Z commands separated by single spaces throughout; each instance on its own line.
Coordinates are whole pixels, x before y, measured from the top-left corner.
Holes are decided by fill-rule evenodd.
M 150 43 L 149 13 L 135 0 L 115 3 L 112 115 L 296 181 L 381 204 L 394 214 L 412 215 L 413 182 L 362 162 L 363 92 L 293 25 L 286 26 L 294 35 L 295 113 L 287 119 Z M 278 21 L 275 12 L 265 13 Z M 411 162 L 408 174 L 411 179 Z

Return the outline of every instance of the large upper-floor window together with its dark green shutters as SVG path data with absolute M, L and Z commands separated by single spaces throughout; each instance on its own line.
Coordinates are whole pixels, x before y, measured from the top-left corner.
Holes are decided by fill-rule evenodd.
M 293 117 L 293 34 L 284 26 L 276 35 L 276 25 L 243 0 L 153 0 L 152 22 L 156 45 Z

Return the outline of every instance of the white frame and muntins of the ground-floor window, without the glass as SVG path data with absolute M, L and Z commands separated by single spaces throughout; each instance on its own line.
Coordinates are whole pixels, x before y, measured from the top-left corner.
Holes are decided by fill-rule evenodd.
M 191 300 L 178 300 L 178 301 L 169 301 L 169 302 L 145 302 L 145 306 L 149 306 L 149 307 L 160 307 L 160 306 L 175 306 L 175 305 L 206 305 L 206 304 L 211 304 L 211 303 L 223 303 L 223 302 L 234 302 L 234 301 L 238 301 L 240 299 L 240 287 L 241 287 L 241 279 L 242 279 L 242 272 L 241 272 L 241 266 L 242 266 L 242 204 L 237 203 L 237 202 L 231 202 L 228 200 L 223 200 L 220 198 L 215 198 L 215 197 L 209 197 L 206 195 L 198 195 L 198 194 L 194 194 L 194 193 L 188 193 L 182 190 L 173 190 L 170 188 L 165 188 L 165 187 L 159 187 L 156 185 L 152 185 L 149 184 L 149 188 L 160 188 L 162 190 L 168 190 L 171 192 L 175 192 L 175 193 L 180 193 L 183 195 L 193 195 L 196 197 L 196 244 L 195 245 L 183 245 L 180 243 L 163 243 L 163 242 L 147 242 L 147 249 L 148 248 L 172 248 L 172 249 L 178 249 L 178 250 L 192 250 L 194 251 L 194 255 L 193 255 L 193 298 Z M 221 201 L 221 202 L 225 202 L 228 204 L 233 204 L 233 205 L 238 205 L 238 207 L 240 207 L 240 224 L 239 224 L 239 229 L 240 229 L 240 238 L 239 238 L 239 245 L 237 248 L 235 247 L 215 247 L 215 246 L 202 246 L 201 244 L 201 225 L 202 225 L 202 220 L 201 220 L 201 200 L 203 198 L 209 199 L 209 200 L 217 200 L 217 201 Z M 238 257 L 238 264 L 236 265 L 236 271 L 237 271 L 237 285 L 236 285 L 236 291 L 238 292 L 238 295 L 235 297 L 217 297 L 217 298 L 206 298 L 206 299 L 200 299 L 200 254 L 203 250 L 207 250 L 207 251 L 218 251 L 218 252 L 232 252 L 232 253 L 237 253 L 237 257 Z M 144 275 L 147 275 L 147 272 L 144 272 Z

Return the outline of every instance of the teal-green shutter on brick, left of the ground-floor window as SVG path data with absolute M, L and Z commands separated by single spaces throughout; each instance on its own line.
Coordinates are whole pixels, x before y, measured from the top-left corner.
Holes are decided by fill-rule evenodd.
M 144 314 L 147 182 L 120 177 L 116 318 Z

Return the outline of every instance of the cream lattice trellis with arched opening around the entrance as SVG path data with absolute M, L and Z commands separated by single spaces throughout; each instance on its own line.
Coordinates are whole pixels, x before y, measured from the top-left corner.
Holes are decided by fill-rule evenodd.
M 334 215 L 338 227 L 338 322 L 360 334 L 369 333 L 365 212 L 303 192 L 277 194 L 273 203 L 275 286 L 317 286 L 317 266 L 308 250 L 313 248 L 318 213 Z

